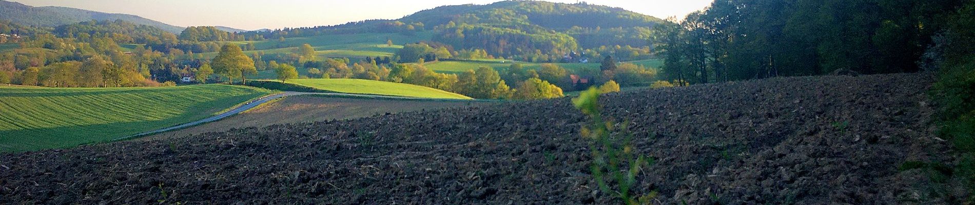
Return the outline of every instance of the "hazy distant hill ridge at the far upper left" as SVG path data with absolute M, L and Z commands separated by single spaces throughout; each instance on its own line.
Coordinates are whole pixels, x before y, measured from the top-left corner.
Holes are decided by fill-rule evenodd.
M 107 14 L 65 7 L 31 7 L 0 0 L 0 20 L 10 20 L 22 25 L 55 27 L 92 19 L 122 19 L 136 24 L 156 26 L 171 33 L 179 33 L 183 30 L 183 27 L 134 15 Z

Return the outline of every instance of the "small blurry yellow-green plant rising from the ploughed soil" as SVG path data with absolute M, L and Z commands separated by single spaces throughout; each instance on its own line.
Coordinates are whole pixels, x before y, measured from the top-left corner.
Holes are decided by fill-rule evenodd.
M 632 133 L 622 134 L 622 139 L 611 134 L 614 127 L 600 114 L 599 95 L 599 89 L 589 88 L 572 99 L 575 107 L 592 120 L 583 125 L 580 132 L 590 140 L 593 177 L 603 192 L 623 199 L 626 204 L 648 204 L 650 199 L 656 197 L 656 191 L 639 195 L 630 188 L 637 184 L 636 177 L 641 167 L 649 166 L 651 162 L 643 155 L 634 154 Z M 623 123 L 620 130 L 625 132 L 626 124 Z M 612 190 L 612 187 L 616 189 Z

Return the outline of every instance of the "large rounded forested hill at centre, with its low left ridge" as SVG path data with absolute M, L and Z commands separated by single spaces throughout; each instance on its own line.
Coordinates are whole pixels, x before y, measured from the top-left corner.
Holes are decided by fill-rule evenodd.
M 649 51 L 650 28 L 663 22 L 619 8 L 586 3 L 502 1 L 488 5 L 443 6 L 395 20 L 372 19 L 341 25 L 252 31 L 263 39 L 357 33 L 429 33 L 434 47 L 485 53 L 524 61 L 572 52 L 626 53 L 640 59 Z M 606 49 L 609 48 L 609 49 Z M 589 50 L 589 51 L 587 51 Z M 631 54 L 633 53 L 633 54 Z

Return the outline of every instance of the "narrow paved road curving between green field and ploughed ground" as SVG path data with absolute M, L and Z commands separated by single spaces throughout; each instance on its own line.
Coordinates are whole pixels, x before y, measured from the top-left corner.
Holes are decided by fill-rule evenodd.
M 171 127 L 166 127 L 166 128 L 162 128 L 162 129 L 156 129 L 156 130 L 152 130 L 152 131 L 147 131 L 147 132 L 142 132 L 142 133 L 138 133 L 138 134 L 134 134 L 134 135 L 129 135 L 129 136 L 125 136 L 125 137 L 115 138 L 114 141 L 127 140 L 127 139 L 137 138 L 137 137 L 140 137 L 140 136 L 146 136 L 146 135 L 151 135 L 151 134 L 156 134 L 156 133 L 161 133 L 161 132 L 168 132 L 168 131 L 182 129 L 182 128 L 186 128 L 186 127 L 190 127 L 190 126 L 195 126 L 195 125 L 198 125 L 198 124 L 201 124 L 201 123 L 211 122 L 211 121 L 215 121 L 215 120 L 221 120 L 221 119 L 225 119 L 227 117 L 231 117 L 233 115 L 237 115 L 237 114 L 243 113 L 245 111 L 251 110 L 254 107 L 257 107 L 257 106 L 259 106 L 261 104 L 270 102 L 271 100 L 274 100 L 274 99 L 278 99 L 278 98 L 282 98 L 282 97 L 287 97 L 287 96 L 294 96 L 294 95 L 312 95 L 312 94 L 314 94 L 314 95 L 326 95 L 326 96 L 338 96 L 338 97 L 363 97 L 363 98 L 375 98 L 375 99 L 454 100 L 454 99 L 430 99 L 430 98 L 416 98 L 416 97 L 388 96 L 388 95 L 372 95 L 372 94 L 336 93 L 336 92 L 294 92 L 294 91 L 286 91 L 286 92 L 282 92 L 282 93 L 277 93 L 277 94 L 272 94 L 272 95 L 267 95 L 267 96 L 264 96 L 264 97 L 261 97 L 261 98 L 257 98 L 256 100 L 253 100 L 251 102 L 247 102 L 244 105 L 238 106 L 237 108 L 234 108 L 234 109 L 232 109 L 230 111 L 221 113 L 219 115 L 216 115 L 216 116 L 213 116 L 213 117 L 204 119 L 204 120 L 196 120 L 196 121 L 186 122 L 186 123 L 179 124 L 179 125 L 176 125 L 176 126 L 171 126 Z M 468 101 L 468 100 L 457 100 L 457 101 Z

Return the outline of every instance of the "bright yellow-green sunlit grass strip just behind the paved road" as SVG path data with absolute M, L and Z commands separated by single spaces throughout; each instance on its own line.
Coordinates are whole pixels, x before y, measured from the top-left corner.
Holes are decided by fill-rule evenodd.
M 280 84 L 278 81 L 262 82 L 273 82 Z M 354 94 L 374 94 L 436 99 L 472 99 L 471 97 L 464 96 L 462 94 L 448 92 L 432 87 L 362 79 L 297 79 L 289 80 L 287 81 L 287 84 L 310 87 L 322 91 Z

